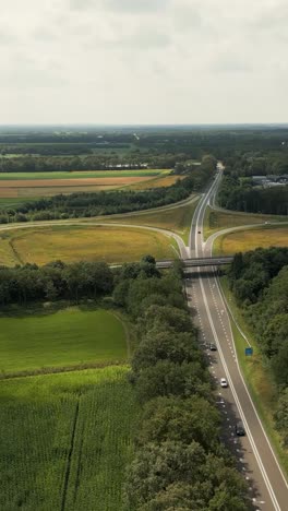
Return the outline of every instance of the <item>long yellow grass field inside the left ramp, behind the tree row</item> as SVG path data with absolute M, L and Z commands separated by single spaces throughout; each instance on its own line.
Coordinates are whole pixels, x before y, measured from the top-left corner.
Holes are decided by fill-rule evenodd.
M 171 259 L 176 252 L 169 237 L 134 227 L 53 226 L 0 231 L 0 264 L 35 262 L 140 261 L 147 253 Z

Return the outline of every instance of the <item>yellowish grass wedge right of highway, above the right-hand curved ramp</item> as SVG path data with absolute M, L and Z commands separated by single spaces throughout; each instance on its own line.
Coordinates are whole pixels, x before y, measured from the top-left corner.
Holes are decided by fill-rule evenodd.
M 217 230 L 238 227 L 250 224 L 264 224 L 265 222 L 287 222 L 287 216 L 262 215 L 240 212 L 214 211 L 209 206 L 206 209 L 204 218 L 204 237 L 208 238 Z

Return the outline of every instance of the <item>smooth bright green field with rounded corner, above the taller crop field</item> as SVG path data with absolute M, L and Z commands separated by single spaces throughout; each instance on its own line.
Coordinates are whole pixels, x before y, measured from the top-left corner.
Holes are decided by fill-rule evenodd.
M 106 310 L 76 307 L 0 318 L 0 371 L 46 370 L 124 361 L 125 331 Z

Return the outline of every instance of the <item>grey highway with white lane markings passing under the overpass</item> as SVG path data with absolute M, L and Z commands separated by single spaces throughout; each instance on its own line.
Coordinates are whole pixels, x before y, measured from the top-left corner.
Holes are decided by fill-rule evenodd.
M 214 203 L 221 171 L 200 201 L 190 231 L 190 258 L 211 257 L 212 245 L 203 241 L 205 209 Z M 216 383 L 216 402 L 223 415 L 223 441 L 238 460 L 239 470 L 249 485 L 255 510 L 288 509 L 288 485 L 242 378 L 231 333 L 229 316 L 221 296 L 216 272 L 207 268 L 188 269 L 185 278 L 189 307 L 200 329 L 200 343 L 208 359 Z M 217 352 L 211 352 L 213 342 Z M 228 388 L 219 385 L 226 378 Z M 247 435 L 237 437 L 235 425 L 241 419 Z

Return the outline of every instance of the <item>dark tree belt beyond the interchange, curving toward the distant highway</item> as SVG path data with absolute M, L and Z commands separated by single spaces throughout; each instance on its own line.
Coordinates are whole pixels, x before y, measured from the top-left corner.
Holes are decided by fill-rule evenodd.
M 192 191 L 201 190 L 212 179 L 215 168 L 216 159 L 206 156 L 184 179 L 179 179 L 167 188 L 55 195 L 2 210 L 0 223 L 91 217 L 159 207 L 179 202 L 187 199 Z

